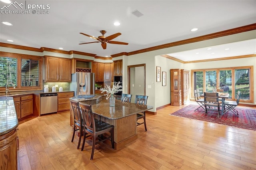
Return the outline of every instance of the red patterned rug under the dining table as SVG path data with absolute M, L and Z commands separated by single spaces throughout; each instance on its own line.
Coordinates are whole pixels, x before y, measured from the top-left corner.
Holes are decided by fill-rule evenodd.
M 217 112 L 208 111 L 208 113 L 204 115 L 204 110 L 202 108 L 194 111 L 198 106 L 199 105 L 194 104 L 188 105 L 187 107 L 171 113 L 170 115 L 256 130 L 256 109 L 236 107 L 239 114 L 238 116 L 234 115 L 231 111 L 228 111 L 224 115 L 220 115 L 218 118 Z

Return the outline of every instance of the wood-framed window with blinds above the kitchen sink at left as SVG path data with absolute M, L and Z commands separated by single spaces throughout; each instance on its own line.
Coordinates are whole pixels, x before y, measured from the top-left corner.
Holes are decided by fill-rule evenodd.
M 0 51 L 0 89 L 42 90 L 42 57 Z

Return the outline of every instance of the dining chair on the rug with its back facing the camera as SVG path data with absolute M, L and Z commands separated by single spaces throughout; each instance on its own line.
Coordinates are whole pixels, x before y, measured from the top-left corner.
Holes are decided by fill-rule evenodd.
M 218 117 L 220 116 L 220 103 L 218 94 L 219 93 L 204 92 L 204 115 L 211 110 L 218 111 Z

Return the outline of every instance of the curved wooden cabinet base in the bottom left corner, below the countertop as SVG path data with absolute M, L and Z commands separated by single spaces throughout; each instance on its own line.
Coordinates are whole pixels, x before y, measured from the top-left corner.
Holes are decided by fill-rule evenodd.
M 18 136 L 14 129 L 0 136 L 0 167 L 3 170 L 17 170 Z

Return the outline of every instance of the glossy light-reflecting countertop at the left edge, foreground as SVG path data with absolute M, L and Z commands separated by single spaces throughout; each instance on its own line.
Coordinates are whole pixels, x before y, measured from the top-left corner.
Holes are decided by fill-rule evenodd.
M 12 97 L 0 97 L 0 136 L 14 130 L 19 125 Z

